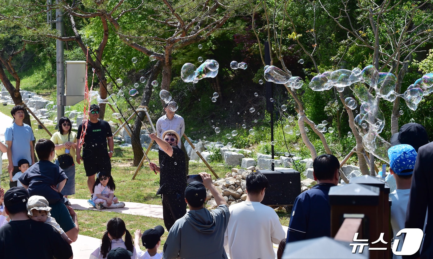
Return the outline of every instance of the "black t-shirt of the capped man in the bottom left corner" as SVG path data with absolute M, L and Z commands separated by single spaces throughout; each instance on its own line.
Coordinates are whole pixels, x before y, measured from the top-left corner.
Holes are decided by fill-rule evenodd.
M 0 259 L 68 259 L 72 247 L 50 224 L 12 220 L 0 228 Z

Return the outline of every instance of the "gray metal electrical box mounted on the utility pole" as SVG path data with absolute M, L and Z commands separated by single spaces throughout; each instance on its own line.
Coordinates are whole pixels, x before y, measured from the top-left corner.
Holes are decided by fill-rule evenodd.
M 65 95 L 62 96 L 62 105 L 71 106 L 84 100 L 85 78 L 85 61 L 65 61 Z

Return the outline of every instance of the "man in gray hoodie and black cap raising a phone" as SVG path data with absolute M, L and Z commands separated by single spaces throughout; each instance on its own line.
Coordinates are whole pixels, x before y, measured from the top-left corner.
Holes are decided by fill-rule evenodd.
M 193 181 L 185 189 L 185 201 L 190 210 L 176 220 L 164 244 L 163 259 L 226 259 L 224 233 L 229 223 L 229 208 L 223 196 L 212 184 L 207 173 L 200 173 L 203 183 Z M 218 207 L 204 208 L 206 188 Z

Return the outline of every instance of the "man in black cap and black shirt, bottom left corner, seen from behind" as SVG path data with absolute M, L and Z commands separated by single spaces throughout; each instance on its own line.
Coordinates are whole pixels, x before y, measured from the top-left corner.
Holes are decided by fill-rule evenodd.
M 5 210 L 11 221 L 0 228 L 0 259 L 72 258 L 71 246 L 51 225 L 29 218 L 29 197 L 23 187 L 10 188 L 4 195 Z

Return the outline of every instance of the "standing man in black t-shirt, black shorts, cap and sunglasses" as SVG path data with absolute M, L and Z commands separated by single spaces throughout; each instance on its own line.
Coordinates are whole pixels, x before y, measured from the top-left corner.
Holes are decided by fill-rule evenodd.
M 83 123 L 78 126 L 78 143 L 83 142 L 83 155 L 81 157 L 81 147 L 77 145 L 77 163 L 84 162 L 84 170 L 87 175 L 87 187 L 90 191 L 90 205 L 95 206 L 93 203 L 93 185 L 95 184 L 95 175 L 97 172 L 111 173 L 110 159 L 114 152 L 113 133 L 111 132 L 110 124 L 105 120 L 99 119 L 99 106 L 97 104 L 90 105 L 89 120 L 87 129 L 81 139 L 81 131 L 83 130 Z M 108 143 L 108 150 L 107 150 Z

